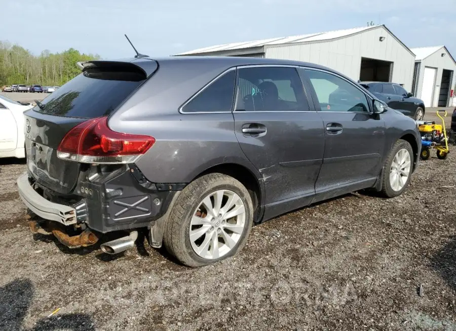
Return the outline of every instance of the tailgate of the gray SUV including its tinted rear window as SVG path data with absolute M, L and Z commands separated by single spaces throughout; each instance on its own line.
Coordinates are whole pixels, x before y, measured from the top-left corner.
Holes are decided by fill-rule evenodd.
M 108 116 L 146 78 L 143 70 L 129 62 L 94 61 L 91 68 L 26 111 L 29 174 L 53 191 L 70 193 L 77 184 L 80 163 L 57 157 L 63 137 L 79 123 Z

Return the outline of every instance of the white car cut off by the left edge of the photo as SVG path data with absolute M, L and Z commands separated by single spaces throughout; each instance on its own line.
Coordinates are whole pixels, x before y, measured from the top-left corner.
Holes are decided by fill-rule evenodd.
M 23 113 L 32 107 L 0 95 L 0 157 L 25 157 Z

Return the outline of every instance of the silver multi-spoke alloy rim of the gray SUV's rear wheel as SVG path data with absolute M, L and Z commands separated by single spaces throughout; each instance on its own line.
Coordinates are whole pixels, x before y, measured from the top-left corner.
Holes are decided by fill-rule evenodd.
M 189 238 L 200 257 L 214 260 L 229 253 L 241 239 L 245 227 L 245 206 L 230 190 L 206 196 L 193 214 Z

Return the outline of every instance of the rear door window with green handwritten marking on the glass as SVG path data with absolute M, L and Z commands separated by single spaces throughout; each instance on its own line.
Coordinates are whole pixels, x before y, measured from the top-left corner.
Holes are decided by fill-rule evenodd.
M 259 66 L 238 72 L 237 111 L 309 111 L 295 68 Z

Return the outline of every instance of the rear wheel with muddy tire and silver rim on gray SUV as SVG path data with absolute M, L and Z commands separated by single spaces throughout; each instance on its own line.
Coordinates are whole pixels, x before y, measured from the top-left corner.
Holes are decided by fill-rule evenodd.
M 202 176 L 182 190 L 172 207 L 163 237 L 166 250 L 189 267 L 231 257 L 247 241 L 253 212 L 250 194 L 238 180 L 218 173 Z

